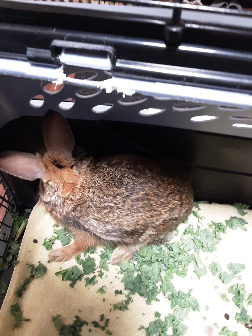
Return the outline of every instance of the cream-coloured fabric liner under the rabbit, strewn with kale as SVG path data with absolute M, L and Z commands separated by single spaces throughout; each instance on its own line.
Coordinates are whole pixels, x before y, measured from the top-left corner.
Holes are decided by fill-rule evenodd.
M 203 216 L 203 227 L 207 227 L 207 223 L 212 220 L 215 222 L 224 222 L 231 216 L 241 217 L 237 213 L 237 209 L 228 205 L 218 204 L 200 204 L 200 215 Z M 247 231 L 240 228 L 232 230 L 227 228 L 227 234 L 222 235 L 222 240 L 218 244 L 218 248 L 213 253 L 200 253 L 202 262 L 207 266 L 212 261 L 219 262 L 222 269 L 228 262 L 245 263 L 246 268 L 241 272 L 241 283 L 246 284 L 247 293 L 252 292 L 251 281 L 251 239 L 252 239 L 252 211 L 243 216 L 248 222 L 246 225 Z M 195 216 L 189 217 L 189 222 L 194 226 L 198 225 L 198 220 Z M 24 235 L 20 253 L 18 256 L 19 264 L 15 267 L 13 277 L 0 312 L 0 333 L 1 336 L 56 336 L 58 332 L 54 328 L 52 316 L 61 314 L 61 317 L 66 324 L 73 323 L 75 315 L 79 315 L 81 319 L 89 323 L 88 326 L 82 328 L 81 335 L 105 335 L 101 329 L 94 328 L 92 321 L 99 321 L 100 314 L 104 314 L 105 319 L 110 319 L 108 329 L 113 336 L 143 336 L 145 330 L 139 331 L 140 325 L 148 327 L 151 321 L 154 321 L 155 311 L 161 313 L 161 318 L 172 312 L 170 302 L 161 293 L 158 295 L 160 301 L 153 301 L 151 305 L 147 305 L 145 299 L 139 295 L 134 295 L 133 302 L 129 305 L 129 310 L 110 311 L 115 302 L 122 300 L 119 295 L 115 296 L 115 290 L 122 290 L 125 293 L 123 283 L 120 279 L 122 275 L 118 274 L 119 266 L 109 265 L 109 272 L 104 272 L 102 279 L 97 277 L 98 284 L 85 287 L 85 276 L 82 281 L 77 281 L 72 289 L 68 281 L 61 281 L 61 277 L 56 277 L 55 272 L 68 268 L 76 264 L 75 259 L 64 263 L 46 263 L 48 260 L 48 251 L 42 246 L 43 240 L 52 235 L 52 226 L 54 222 L 48 214 L 44 212 L 43 207 L 37 204 L 33 209 L 28 226 Z M 179 232 L 182 233 L 188 224 L 181 224 Z M 38 243 L 33 243 L 37 239 Z M 174 237 L 173 241 L 179 239 Z M 53 248 L 59 247 L 57 242 Z M 102 248 L 99 248 L 100 251 Z M 98 253 L 92 254 L 98 261 Z M 15 297 L 16 289 L 23 283 L 29 275 L 29 270 L 26 262 L 35 265 L 41 261 L 47 266 L 47 273 L 39 279 L 35 279 L 27 288 L 23 297 L 18 301 L 20 308 L 23 311 L 25 318 L 30 318 L 30 322 L 24 322 L 22 326 L 12 331 L 14 318 L 10 315 L 10 305 L 17 301 Z M 224 265 L 224 266 L 223 266 Z M 238 324 L 235 321 L 235 313 L 239 309 L 234 305 L 232 296 L 229 302 L 224 302 L 220 299 L 220 293 L 227 293 L 227 285 L 221 283 L 218 277 L 213 277 L 208 270 L 207 275 L 198 280 L 193 273 L 193 268 L 188 267 L 188 273 L 185 278 L 174 276 L 172 283 L 176 290 L 187 292 L 193 288 L 192 296 L 197 298 L 200 311 L 191 311 L 188 319 L 183 322 L 188 326 L 186 336 L 215 336 L 219 334 L 219 329 L 222 326 L 228 326 L 232 331 L 237 331 L 239 336 L 249 335 L 248 329 L 244 325 Z M 97 274 L 97 273 L 96 273 Z M 106 277 L 107 275 L 107 277 Z M 234 279 L 228 286 L 237 282 Z M 96 293 L 98 288 L 106 285 L 106 294 Z M 219 286 L 216 289 L 214 286 Z M 103 302 L 103 298 L 105 301 Z M 209 310 L 205 310 L 205 306 L 209 306 Z M 252 314 L 252 305 L 246 306 L 248 314 Z M 224 313 L 228 313 L 230 319 L 224 319 Z M 206 319 L 203 319 L 206 317 Z M 214 327 L 216 323 L 219 329 Z M 91 332 L 89 333 L 89 329 Z M 172 334 L 171 329 L 170 333 Z

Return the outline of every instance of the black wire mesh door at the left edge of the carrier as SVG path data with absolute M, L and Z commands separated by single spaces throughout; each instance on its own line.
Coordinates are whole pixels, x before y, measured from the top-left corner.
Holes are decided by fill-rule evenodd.
M 8 182 L 0 173 L 0 260 L 5 259 L 13 228 L 13 219 L 6 210 L 16 212 L 17 206 Z

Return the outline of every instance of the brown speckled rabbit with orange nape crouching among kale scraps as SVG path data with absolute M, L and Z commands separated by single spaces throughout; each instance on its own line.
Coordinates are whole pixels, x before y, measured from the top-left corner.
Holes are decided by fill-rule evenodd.
M 169 160 L 118 155 L 101 161 L 75 148 L 67 121 L 55 111 L 44 117 L 43 155 L 3 152 L 0 169 L 26 180 L 39 178 L 40 202 L 75 235 L 52 250 L 66 261 L 92 246 L 116 246 L 111 263 L 133 257 L 141 247 L 168 239 L 192 211 L 191 176 Z

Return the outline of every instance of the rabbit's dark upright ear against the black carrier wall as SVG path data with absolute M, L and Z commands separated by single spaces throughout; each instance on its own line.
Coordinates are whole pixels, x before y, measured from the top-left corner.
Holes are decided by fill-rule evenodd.
M 46 149 L 65 152 L 72 157 L 75 146 L 72 131 L 60 113 L 49 110 L 44 116 L 43 135 Z

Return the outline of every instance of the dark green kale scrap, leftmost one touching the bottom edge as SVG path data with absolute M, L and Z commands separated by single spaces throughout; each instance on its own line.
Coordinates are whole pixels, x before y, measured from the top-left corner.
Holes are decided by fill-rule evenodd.
M 82 327 L 88 326 L 88 322 L 82 321 L 79 316 L 75 316 L 72 324 L 63 324 L 60 315 L 53 316 L 52 321 L 60 336 L 81 336 Z

